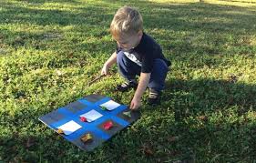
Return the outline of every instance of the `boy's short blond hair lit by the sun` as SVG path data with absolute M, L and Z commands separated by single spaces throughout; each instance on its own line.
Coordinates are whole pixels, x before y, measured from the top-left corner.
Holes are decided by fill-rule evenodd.
M 143 30 L 143 20 L 138 10 L 129 6 L 119 8 L 110 25 L 111 35 L 131 36 L 139 30 Z

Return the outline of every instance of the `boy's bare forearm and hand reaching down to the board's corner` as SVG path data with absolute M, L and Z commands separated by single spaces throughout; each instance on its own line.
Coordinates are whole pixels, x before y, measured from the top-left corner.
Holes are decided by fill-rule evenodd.
M 130 109 L 137 109 L 141 106 L 140 99 L 148 86 L 150 76 L 151 73 L 140 73 L 138 87 L 130 103 Z

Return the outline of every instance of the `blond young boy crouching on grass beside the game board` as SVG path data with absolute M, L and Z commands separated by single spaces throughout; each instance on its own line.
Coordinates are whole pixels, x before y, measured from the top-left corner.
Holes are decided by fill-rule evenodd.
M 163 56 L 161 47 L 143 32 L 142 16 L 129 6 L 118 9 L 110 25 L 110 33 L 117 41 L 117 50 L 102 67 L 101 74 L 107 75 L 110 66 L 118 63 L 118 70 L 127 82 L 117 87 L 118 91 L 137 88 L 130 109 L 141 106 L 141 97 L 149 87 L 148 104 L 159 104 L 170 62 Z M 136 81 L 139 77 L 139 82 Z

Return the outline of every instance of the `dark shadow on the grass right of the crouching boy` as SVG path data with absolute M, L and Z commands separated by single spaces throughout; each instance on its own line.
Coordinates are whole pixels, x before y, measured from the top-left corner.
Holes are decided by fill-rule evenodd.
M 177 100 L 175 111 L 178 119 L 225 111 L 229 107 L 235 107 L 233 111 L 241 117 L 256 106 L 256 86 L 229 80 L 174 80 L 167 83 L 167 92 L 174 96 L 170 100 Z M 169 95 L 163 98 L 168 99 Z

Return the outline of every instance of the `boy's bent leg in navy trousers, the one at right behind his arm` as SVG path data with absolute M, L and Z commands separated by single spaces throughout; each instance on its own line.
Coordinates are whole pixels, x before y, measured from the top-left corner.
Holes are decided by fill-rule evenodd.
M 153 70 L 151 72 L 148 87 L 158 92 L 163 90 L 168 71 L 169 68 L 165 61 L 162 59 L 156 59 L 154 62 Z

